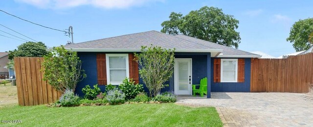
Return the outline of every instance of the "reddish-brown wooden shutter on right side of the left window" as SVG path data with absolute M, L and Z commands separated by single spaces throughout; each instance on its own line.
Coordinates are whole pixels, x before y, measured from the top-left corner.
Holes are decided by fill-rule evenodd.
M 138 63 L 134 61 L 134 54 L 128 54 L 128 63 L 129 63 L 129 78 L 135 81 L 135 84 L 139 84 L 139 68 Z

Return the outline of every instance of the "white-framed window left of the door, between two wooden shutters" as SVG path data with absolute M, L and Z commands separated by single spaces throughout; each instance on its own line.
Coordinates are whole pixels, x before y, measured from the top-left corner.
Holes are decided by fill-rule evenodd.
M 120 85 L 129 77 L 128 54 L 106 54 L 108 84 Z

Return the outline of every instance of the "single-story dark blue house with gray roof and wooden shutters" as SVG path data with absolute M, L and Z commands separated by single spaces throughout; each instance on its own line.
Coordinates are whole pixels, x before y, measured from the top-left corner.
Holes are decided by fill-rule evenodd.
M 208 77 L 207 98 L 210 92 L 250 92 L 251 58 L 260 55 L 185 35 L 168 35 L 158 31 L 128 34 L 89 42 L 65 45 L 78 52 L 87 78 L 79 82 L 76 93 L 82 95 L 85 85 L 98 84 L 102 90 L 108 84 L 119 85 L 125 77 L 143 84 L 134 52 L 151 44 L 162 48 L 176 48 L 175 69 L 168 87 L 179 95 L 191 95 L 192 84 Z

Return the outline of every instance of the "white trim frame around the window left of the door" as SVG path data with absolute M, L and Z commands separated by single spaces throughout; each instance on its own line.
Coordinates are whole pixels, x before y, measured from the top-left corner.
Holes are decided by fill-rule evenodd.
M 109 59 L 109 57 L 126 57 L 126 76 L 127 76 L 127 78 L 129 78 L 128 54 L 106 54 L 106 67 L 107 67 L 107 82 L 108 82 L 108 85 L 109 84 L 120 85 L 120 84 L 123 83 L 123 81 L 121 81 L 121 82 L 112 82 L 112 83 L 110 81 L 110 64 L 109 64 L 110 59 Z

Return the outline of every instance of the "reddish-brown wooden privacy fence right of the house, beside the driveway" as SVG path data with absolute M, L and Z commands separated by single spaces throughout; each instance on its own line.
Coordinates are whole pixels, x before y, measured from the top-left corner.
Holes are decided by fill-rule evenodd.
M 313 53 L 287 59 L 251 59 L 251 92 L 306 93 L 313 84 Z

